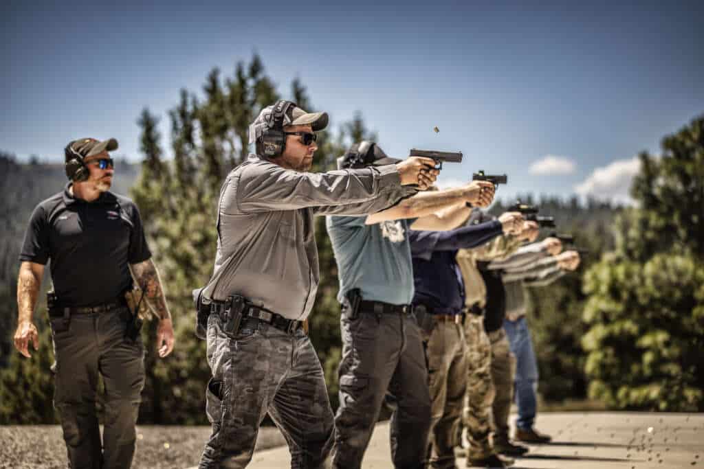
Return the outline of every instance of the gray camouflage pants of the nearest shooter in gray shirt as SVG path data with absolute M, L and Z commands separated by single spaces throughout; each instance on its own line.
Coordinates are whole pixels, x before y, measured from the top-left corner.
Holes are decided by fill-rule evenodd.
M 308 336 L 249 319 L 235 337 L 208 317 L 206 413 L 213 425 L 199 468 L 244 468 L 268 412 L 291 452 L 291 468 L 323 468 L 333 415 L 322 367 Z

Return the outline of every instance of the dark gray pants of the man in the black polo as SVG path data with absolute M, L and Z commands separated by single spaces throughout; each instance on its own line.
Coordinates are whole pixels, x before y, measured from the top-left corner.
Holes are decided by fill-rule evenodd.
M 144 345 L 125 340 L 127 308 L 74 314 L 68 328 L 51 319 L 56 367 L 54 406 L 61 418 L 73 469 L 127 469 L 132 465 Z M 98 375 L 105 384 L 105 428 L 101 445 L 95 401 Z

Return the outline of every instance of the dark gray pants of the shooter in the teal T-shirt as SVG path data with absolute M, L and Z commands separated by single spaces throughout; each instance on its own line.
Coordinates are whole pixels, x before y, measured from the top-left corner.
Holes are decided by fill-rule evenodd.
M 409 314 L 358 313 L 340 319 L 340 406 L 335 416 L 333 465 L 358 469 L 386 391 L 391 414 L 391 459 L 397 469 L 422 468 L 430 428 L 430 395 L 420 328 Z

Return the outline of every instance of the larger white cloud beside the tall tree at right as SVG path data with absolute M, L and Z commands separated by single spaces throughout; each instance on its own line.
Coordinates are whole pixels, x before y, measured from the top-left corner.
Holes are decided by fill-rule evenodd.
M 641 160 L 638 157 L 616 160 L 610 165 L 594 169 L 582 183 L 574 186 L 574 191 L 584 197 L 631 205 L 634 201 L 628 192 L 640 169 Z

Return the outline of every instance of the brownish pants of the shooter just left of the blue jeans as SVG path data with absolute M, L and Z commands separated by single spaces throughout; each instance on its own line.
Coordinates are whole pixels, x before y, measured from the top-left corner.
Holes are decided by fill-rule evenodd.
M 489 333 L 491 342 L 491 380 L 496 396 L 491 406 L 494 413 L 494 441 L 508 441 L 508 415 L 513 401 L 513 378 L 516 374 L 516 357 L 511 353 L 505 330 L 499 328 Z

